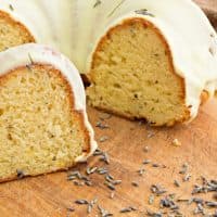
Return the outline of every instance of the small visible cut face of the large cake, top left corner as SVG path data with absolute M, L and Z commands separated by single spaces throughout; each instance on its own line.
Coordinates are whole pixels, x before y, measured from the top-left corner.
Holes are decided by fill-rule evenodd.
M 26 27 L 0 11 L 0 51 L 28 42 L 35 39 Z

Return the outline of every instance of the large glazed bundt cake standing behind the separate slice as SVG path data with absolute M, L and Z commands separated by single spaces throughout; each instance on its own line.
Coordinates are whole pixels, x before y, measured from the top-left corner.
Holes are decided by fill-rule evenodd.
M 217 89 L 217 35 L 191 0 L 0 0 L 0 14 L 1 50 L 21 35 L 63 52 L 95 107 L 170 126 Z

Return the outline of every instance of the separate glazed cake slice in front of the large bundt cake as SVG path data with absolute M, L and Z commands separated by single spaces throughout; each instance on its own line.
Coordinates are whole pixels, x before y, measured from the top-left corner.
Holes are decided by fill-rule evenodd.
M 74 65 L 39 44 L 0 53 L 0 182 L 67 169 L 95 150 Z

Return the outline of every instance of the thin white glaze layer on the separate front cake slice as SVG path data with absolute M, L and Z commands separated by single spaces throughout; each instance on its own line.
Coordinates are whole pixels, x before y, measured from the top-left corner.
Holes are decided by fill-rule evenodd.
M 34 63 L 52 65 L 54 68 L 59 69 L 68 80 L 72 92 L 74 93 L 75 110 L 82 113 L 84 124 L 90 137 L 90 152 L 78 156 L 76 162 L 86 161 L 87 157 L 90 156 L 97 149 L 97 142 L 94 141 L 93 129 L 88 122 L 86 113 L 85 88 L 78 71 L 68 59 L 53 51 L 49 47 L 29 43 L 8 49 L 4 52 L 0 52 L 0 76 L 16 67 L 28 65 L 31 63 L 31 61 Z

